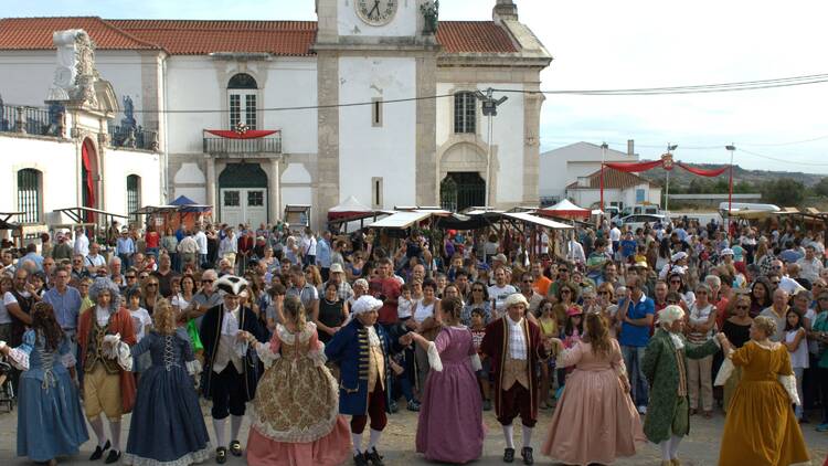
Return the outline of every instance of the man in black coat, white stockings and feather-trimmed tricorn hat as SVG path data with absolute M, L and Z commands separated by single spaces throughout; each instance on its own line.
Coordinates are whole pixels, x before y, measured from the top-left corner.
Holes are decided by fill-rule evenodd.
M 242 456 L 238 432 L 244 420 L 245 403 L 253 400 L 259 378 L 255 351 L 250 350 L 240 335 L 247 331 L 264 342 L 267 341 L 267 333 L 256 315 L 241 306 L 240 295 L 247 288 L 244 278 L 225 275 L 215 286 L 223 293 L 223 303 L 204 314 L 199 330 L 204 345 L 201 388 L 204 396 L 213 401 L 211 415 L 217 445 L 215 459 L 223 464 L 227 460 L 225 420 L 231 416 L 230 453 Z

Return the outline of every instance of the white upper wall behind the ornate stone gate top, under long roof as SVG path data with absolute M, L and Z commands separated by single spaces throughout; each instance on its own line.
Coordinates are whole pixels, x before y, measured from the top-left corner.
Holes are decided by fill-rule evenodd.
M 20 104 L 45 107 L 43 100 L 54 81 L 55 51 L 2 51 L 0 52 L 0 95 L 6 104 Z M 124 105 L 124 97 L 130 96 L 136 110 L 141 109 L 141 57 L 137 52 L 96 51 L 95 67 L 100 77 L 110 82 Z M 123 115 L 116 116 L 120 125 Z M 144 125 L 144 117 L 136 112 L 135 119 Z

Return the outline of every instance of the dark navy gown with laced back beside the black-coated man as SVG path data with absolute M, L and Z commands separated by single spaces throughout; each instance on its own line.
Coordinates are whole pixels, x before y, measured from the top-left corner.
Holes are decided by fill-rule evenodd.
M 187 363 L 194 360 L 184 329 L 151 331 L 131 348 L 132 359 L 149 351 L 129 424 L 124 464 L 184 466 L 210 457 L 210 436 Z

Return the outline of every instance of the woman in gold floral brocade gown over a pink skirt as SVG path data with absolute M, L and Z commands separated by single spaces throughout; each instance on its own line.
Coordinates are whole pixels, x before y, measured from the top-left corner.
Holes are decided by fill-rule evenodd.
M 351 431 L 339 415 L 339 385 L 298 298 L 286 298 L 284 313 L 269 343 L 246 335 L 267 366 L 253 400 L 247 464 L 340 465 L 351 457 Z

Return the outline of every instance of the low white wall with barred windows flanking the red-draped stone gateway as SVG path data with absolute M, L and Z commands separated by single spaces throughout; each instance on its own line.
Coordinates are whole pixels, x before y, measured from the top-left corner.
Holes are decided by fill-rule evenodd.
M 18 171 L 25 168 L 42 173 L 43 216 L 55 209 L 81 205 L 81 144 L 73 140 L 9 137 L 0 134 L 0 211 L 18 211 Z M 141 177 L 141 203 L 160 203 L 161 167 L 157 153 L 104 150 L 104 210 L 127 213 L 126 178 Z M 64 219 L 63 221 L 67 221 Z

